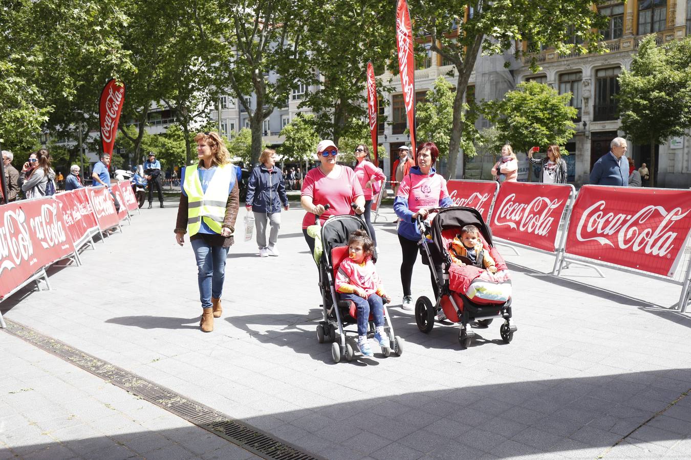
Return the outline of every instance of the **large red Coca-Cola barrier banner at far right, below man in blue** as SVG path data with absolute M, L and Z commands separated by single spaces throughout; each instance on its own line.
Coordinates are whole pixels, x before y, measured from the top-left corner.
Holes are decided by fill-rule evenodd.
M 583 186 L 567 254 L 671 277 L 691 229 L 691 190 Z

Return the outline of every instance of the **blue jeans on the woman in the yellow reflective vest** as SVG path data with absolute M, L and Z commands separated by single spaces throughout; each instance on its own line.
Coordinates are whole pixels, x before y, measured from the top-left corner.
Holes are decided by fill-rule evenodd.
M 191 241 L 194 257 L 197 259 L 199 300 L 202 308 L 211 308 L 211 297 L 220 299 L 225 278 L 225 259 L 230 248 L 210 246 L 203 239 Z

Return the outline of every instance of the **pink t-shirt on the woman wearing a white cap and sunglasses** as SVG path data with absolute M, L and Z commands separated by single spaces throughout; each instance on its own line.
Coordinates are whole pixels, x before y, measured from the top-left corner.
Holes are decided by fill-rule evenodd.
M 363 195 L 360 183 L 355 177 L 355 172 L 351 168 L 338 165 L 341 168 L 339 177 L 331 179 L 326 177 L 321 169 L 314 168 L 307 172 L 303 181 L 301 195 L 312 197 L 314 206 L 330 205 L 330 208 L 321 214 L 321 223 L 324 223 L 330 216 L 340 216 L 343 214 L 354 214 L 350 207 L 357 197 Z M 303 230 L 314 225 L 316 215 L 307 212 L 303 218 Z

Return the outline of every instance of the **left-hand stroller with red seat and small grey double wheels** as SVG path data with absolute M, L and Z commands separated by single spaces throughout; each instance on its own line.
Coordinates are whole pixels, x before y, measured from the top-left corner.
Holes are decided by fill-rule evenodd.
M 321 290 L 323 311 L 323 320 L 316 326 L 316 338 L 319 343 L 332 342 L 331 356 L 334 363 L 341 361 L 342 357 L 351 361 L 354 356 L 352 345 L 346 341 L 346 334 L 357 335 L 357 330 L 348 330 L 346 327 L 357 324 L 357 310 L 351 301 L 339 299 L 334 283 L 335 274 L 341 262 L 348 257 L 348 236 L 354 230 L 365 230 L 368 235 L 370 234 L 366 223 L 360 217 L 351 215 L 330 217 L 323 223 L 319 232 L 322 252 L 314 254 L 319 266 L 319 290 Z M 318 245 L 315 245 L 315 252 L 318 250 L 316 246 Z M 376 263 L 377 254 L 372 254 L 372 261 Z M 402 340 L 394 334 L 386 305 L 384 306 L 384 330 L 390 346 L 383 347 L 381 352 L 385 357 L 388 357 L 392 351 L 400 356 L 403 352 Z M 368 338 L 372 337 L 374 332 L 370 314 Z

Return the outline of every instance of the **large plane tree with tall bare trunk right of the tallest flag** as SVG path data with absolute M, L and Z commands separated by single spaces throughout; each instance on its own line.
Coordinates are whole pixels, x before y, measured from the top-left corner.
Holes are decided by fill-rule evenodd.
M 555 46 L 556 52 L 571 50 L 595 52 L 603 50 L 598 29 L 606 19 L 593 8 L 594 3 L 582 0 L 417 0 L 410 3 L 414 34 L 424 36 L 430 49 L 453 64 L 456 93 L 453 100 L 451 139 L 448 151 L 459 152 L 464 123 L 463 98 L 480 52 L 502 54 L 513 48 L 522 59 L 526 40 L 533 70 L 537 61 L 531 52 L 540 45 Z M 574 44 L 573 36 L 585 44 Z M 515 47 L 515 48 L 514 48 Z M 447 176 L 455 174 L 459 155 L 449 156 Z

